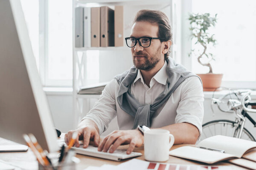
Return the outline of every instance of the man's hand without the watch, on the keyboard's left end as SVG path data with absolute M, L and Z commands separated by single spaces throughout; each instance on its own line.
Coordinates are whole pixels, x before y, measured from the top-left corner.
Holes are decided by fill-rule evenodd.
M 89 146 L 89 142 L 93 141 L 93 145 L 95 147 L 99 146 L 99 130 L 96 128 L 95 123 L 91 122 L 90 120 L 88 120 L 90 122 L 90 125 L 83 125 L 83 126 L 79 126 L 76 130 L 70 130 L 68 133 L 65 134 L 65 142 L 68 145 L 72 135 L 75 131 L 78 132 L 77 138 L 74 142 L 74 145 L 76 147 L 79 147 L 79 140 L 84 140 L 84 148 L 87 148 Z

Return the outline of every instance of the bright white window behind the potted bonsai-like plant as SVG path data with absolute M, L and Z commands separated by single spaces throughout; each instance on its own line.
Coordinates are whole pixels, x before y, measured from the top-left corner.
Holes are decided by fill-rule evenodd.
M 215 28 L 209 30 L 215 34 L 218 43 L 215 48 L 209 49 L 216 60 L 212 63 L 213 72 L 223 73 L 224 82 L 255 83 L 256 1 L 193 0 L 192 12 L 210 13 L 212 16 L 218 14 Z M 209 70 L 193 58 L 192 71 L 206 73 Z

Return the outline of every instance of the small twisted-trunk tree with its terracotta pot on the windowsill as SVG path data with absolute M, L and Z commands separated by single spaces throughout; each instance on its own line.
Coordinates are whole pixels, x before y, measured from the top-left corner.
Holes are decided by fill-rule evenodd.
M 216 88 L 220 87 L 223 76 L 223 74 L 212 73 L 211 61 L 214 61 L 215 59 L 212 53 L 207 52 L 207 47 L 210 45 L 215 46 L 216 44 L 216 40 L 213 37 L 214 35 L 210 35 L 208 32 L 210 27 L 215 26 L 215 23 L 217 22 L 216 16 L 217 14 L 215 14 L 215 17 L 210 17 L 209 13 L 189 14 L 191 25 L 189 29 L 192 32 L 192 39 L 195 39 L 196 44 L 200 44 L 201 46 L 197 51 L 192 49 L 189 56 L 192 53 L 197 55 L 198 63 L 202 66 L 209 67 L 209 72 L 207 74 L 197 74 L 203 82 L 204 91 L 214 91 Z

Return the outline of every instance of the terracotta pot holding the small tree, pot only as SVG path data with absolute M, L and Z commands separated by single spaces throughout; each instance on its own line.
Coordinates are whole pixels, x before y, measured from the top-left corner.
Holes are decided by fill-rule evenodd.
M 221 86 L 221 79 L 223 77 L 223 74 L 207 73 L 197 75 L 201 78 L 203 82 L 204 91 L 214 91 L 216 88 Z

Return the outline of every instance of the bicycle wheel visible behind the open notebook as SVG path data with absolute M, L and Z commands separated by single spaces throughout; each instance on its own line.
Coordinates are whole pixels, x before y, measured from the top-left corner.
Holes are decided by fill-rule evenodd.
M 214 135 L 224 135 L 233 137 L 235 133 L 239 133 L 237 132 L 238 130 L 236 127 L 236 122 L 230 120 L 209 121 L 203 124 L 201 140 L 209 138 Z M 243 129 L 241 138 L 250 141 L 255 141 L 253 135 L 245 128 Z

